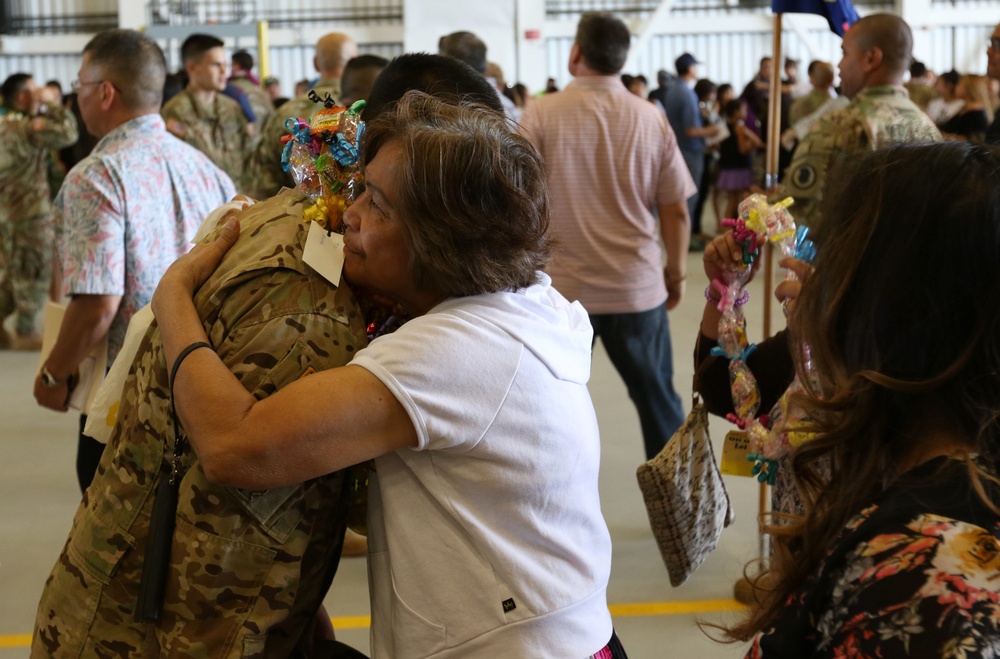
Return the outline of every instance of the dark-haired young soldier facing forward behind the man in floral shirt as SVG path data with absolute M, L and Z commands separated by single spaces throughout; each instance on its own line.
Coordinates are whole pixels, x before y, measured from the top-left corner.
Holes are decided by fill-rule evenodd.
M 250 133 L 239 103 L 220 93 L 226 88 L 223 43 L 192 34 L 181 46 L 181 59 L 190 82 L 163 106 L 167 129 L 208 156 L 244 192 Z

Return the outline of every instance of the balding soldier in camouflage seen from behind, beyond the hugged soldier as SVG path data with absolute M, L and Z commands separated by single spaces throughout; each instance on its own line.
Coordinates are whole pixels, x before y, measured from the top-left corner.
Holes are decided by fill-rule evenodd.
M 341 32 L 331 32 L 316 42 L 316 56 L 313 64 L 320 79 L 313 85 L 320 98 L 328 95 L 340 99 L 340 78 L 344 67 L 357 57 L 358 46 Z M 274 111 L 260 131 L 257 146 L 250 158 L 249 193 L 256 199 L 265 199 L 276 194 L 282 187 L 293 185 L 291 175 L 281 168 L 281 137 L 287 135 L 285 121 L 289 117 L 308 119 L 320 109 L 307 94 L 293 98 Z

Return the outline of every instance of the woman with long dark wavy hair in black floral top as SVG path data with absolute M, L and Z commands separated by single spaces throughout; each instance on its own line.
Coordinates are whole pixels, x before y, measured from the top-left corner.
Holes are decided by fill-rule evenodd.
M 730 638 L 750 657 L 995 656 L 1000 150 L 894 147 L 833 180 L 789 322 L 805 510 L 766 527 L 770 586 Z

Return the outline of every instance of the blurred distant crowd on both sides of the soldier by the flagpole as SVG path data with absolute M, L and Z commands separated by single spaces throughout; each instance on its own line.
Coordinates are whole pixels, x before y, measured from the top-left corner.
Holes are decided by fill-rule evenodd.
M 738 200 L 750 192 L 770 187 L 764 177 L 764 164 L 772 59 L 760 60 L 758 72 L 739 96 L 734 96 L 734 88 L 729 83 L 717 84 L 708 78 L 698 78 L 698 64 L 694 56 L 684 53 L 675 62 L 675 74 L 663 69 L 657 72 L 658 86 L 653 90 L 648 90 L 646 77 L 641 74 L 621 76 L 622 83 L 632 93 L 664 109 L 687 154 L 685 161 L 689 171 L 699 183 L 698 195 L 691 205 L 692 251 L 703 250 L 713 237 L 702 230 L 706 200 L 711 200 L 713 217 L 717 220 L 732 218 Z M 799 62 L 792 58 L 785 58 L 783 71 L 779 180 L 784 179 L 799 142 L 813 132 L 824 115 L 842 109 L 853 98 L 845 93 L 843 83 L 834 84 L 836 74 L 830 62 L 811 61 L 806 69 L 806 80 L 800 77 Z M 689 91 L 684 90 L 685 86 Z M 903 87 L 909 99 L 930 117 L 944 139 L 987 141 L 994 111 L 1000 107 L 1000 79 L 997 77 L 959 74 L 954 70 L 935 75 L 922 62 L 913 59 Z M 667 111 L 671 88 L 675 89 L 673 110 Z M 683 103 L 678 102 L 678 97 L 683 98 Z M 684 112 L 678 109 L 681 107 Z M 685 139 L 685 135 L 692 139 Z M 990 139 L 991 142 L 995 140 L 995 137 Z M 717 224 L 716 233 L 723 231 Z

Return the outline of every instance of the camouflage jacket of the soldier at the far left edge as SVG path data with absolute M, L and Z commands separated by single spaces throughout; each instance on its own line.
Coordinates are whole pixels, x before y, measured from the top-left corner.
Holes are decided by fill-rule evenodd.
M 54 106 L 37 117 L 0 108 L 0 222 L 49 214 L 49 155 L 76 142 L 72 112 Z

